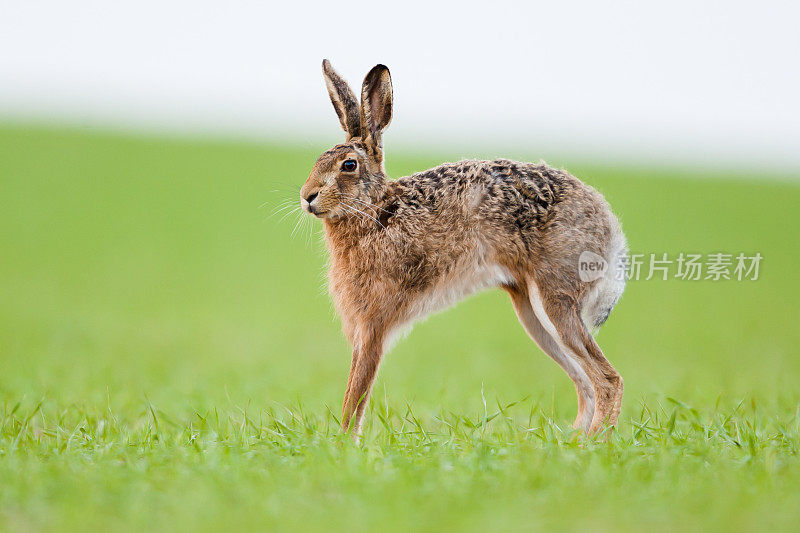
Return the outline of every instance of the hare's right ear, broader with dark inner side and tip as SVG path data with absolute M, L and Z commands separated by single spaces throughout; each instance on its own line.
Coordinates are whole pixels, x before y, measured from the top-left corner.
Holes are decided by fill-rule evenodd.
M 375 65 L 361 86 L 361 136 L 379 163 L 383 162 L 383 130 L 392 121 L 392 77 Z

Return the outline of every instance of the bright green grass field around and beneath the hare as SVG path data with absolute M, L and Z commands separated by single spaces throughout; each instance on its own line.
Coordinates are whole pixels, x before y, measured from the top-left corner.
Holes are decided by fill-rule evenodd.
M 324 148 L 0 128 L 0 530 L 797 527 L 800 181 L 558 162 L 633 251 L 760 252 L 760 278 L 629 283 L 607 442 L 476 296 L 388 355 L 358 447 L 320 224 L 271 216 Z

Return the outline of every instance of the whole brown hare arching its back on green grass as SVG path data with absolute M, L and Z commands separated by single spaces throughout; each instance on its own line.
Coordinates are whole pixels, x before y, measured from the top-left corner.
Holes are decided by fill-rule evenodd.
M 508 292 L 525 331 L 572 378 L 575 427 L 592 434 L 615 425 L 622 377 L 588 329 L 625 286 L 625 237 L 603 197 L 563 170 L 506 159 L 390 180 L 381 141 L 392 119 L 389 69 L 367 74 L 360 105 L 330 62 L 322 70 L 347 139 L 319 157 L 300 202 L 323 219 L 329 289 L 353 346 L 342 428 L 358 438 L 378 365 L 399 333 L 489 287 Z M 582 253 L 604 270 L 580 275 Z

